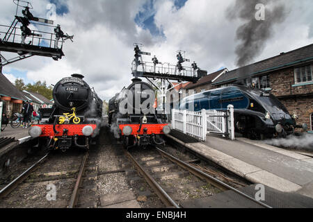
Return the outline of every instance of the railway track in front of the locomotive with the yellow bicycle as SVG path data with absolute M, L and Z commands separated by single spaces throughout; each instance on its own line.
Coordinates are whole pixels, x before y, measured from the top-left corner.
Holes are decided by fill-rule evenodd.
M 81 159 L 81 152 L 47 153 L 1 189 L 1 207 L 76 207 L 88 155 L 86 152 Z M 47 198 L 48 185 L 58 194 L 57 201 Z M 38 205 L 35 200 L 46 205 Z

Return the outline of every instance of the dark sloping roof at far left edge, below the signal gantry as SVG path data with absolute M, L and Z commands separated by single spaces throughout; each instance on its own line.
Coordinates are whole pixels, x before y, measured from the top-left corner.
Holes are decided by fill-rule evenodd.
M 12 99 L 19 99 L 26 101 L 22 92 L 13 85 L 6 76 L 0 73 L 0 95 L 1 96 L 10 96 Z

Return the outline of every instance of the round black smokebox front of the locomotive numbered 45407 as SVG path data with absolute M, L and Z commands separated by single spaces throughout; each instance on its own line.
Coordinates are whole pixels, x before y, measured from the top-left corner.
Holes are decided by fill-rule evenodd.
M 77 111 L 88 107 L 92 93 L 89 85 L 83 80 L 80 74 L 73 74 L 72 77 L 63 78 L 54 87 L 54 102 L 65 112 L 71 112 L 72 108 Z

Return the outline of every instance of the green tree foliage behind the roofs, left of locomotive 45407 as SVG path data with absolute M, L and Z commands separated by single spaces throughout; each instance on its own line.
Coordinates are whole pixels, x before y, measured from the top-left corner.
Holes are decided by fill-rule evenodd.
M 17 78 L 15 80 L 15 87 L 19 90 L 26 90 L 27 92 L 34 92 L 41 94 L 42 96 L 45 96 L 47 99 L 52 99 L 52 91 L 53 87 L 47 86 L 46 81 L 41 82 L 38 81 L 37 83 L 34 84 L 27 84 L 25 85 L 24 81 L 21 78 Z

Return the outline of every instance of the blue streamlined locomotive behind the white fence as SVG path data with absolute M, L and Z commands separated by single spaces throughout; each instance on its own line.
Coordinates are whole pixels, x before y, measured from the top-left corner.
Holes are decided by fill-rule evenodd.
M 227 110 L 234 105 L 236 131 L 250 139 L 285 137 L 294 133 L 296 114 L 290 115 L 278 99 L 264 90 L 244 86 L 230 86 L 194 94 L 183 99 L 181 110 Z

